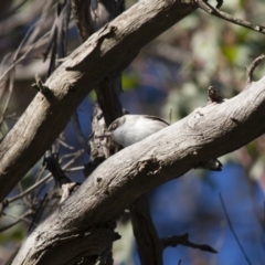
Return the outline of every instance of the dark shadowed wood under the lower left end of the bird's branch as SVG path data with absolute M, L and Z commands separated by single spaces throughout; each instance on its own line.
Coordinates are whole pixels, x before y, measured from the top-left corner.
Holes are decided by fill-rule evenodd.
M 76 264 L 84 256 L 93 257 L 102 254 L 116 240 L 116 234 L 108 227 L 92 229 L 84 233 L 78 231 L 64 232 L 64 236 L 51 239 L 51 247 L 50 244 L 39 245 L 34 248 L 33 256 L 25 256 L 14 264 Z

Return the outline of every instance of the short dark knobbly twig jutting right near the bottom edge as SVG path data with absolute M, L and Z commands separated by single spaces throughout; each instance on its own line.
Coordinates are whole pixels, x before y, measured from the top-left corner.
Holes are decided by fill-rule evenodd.
M 186 233 L 183 235 L 173 235 L 170 237 L 162 239 L 163 248 L 166 248 L 168 246 L 178 246 L 178 245 L 190 246 L 192 248 L 198 248 L 198 250 L 204 251 L 204 252 L 218 253 L 213 247 L 211 247 L 209 245 L 195 244 L 195 243 L 190 242 L 188 233 Z

